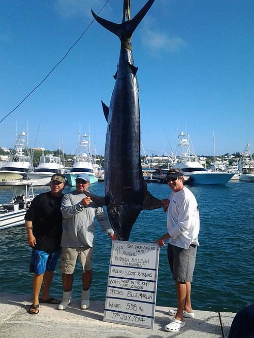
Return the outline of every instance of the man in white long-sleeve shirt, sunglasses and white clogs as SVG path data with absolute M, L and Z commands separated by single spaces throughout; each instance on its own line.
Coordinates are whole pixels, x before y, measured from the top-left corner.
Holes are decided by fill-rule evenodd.
M 168 244 L 168 259 L 172 277 L 176 282 L 177 311 L 169 310 L 175 318 L 165 326 L 168 332 L 177 332 L 185 325 L 185 318 L 193 318 L 190 290 L 193 281 L 199 234 L 199 209 L 195 196 L 183 185 L 183 172 L 171 169 L 166 178 L 172 193 L 162 200 L 167 210 L 168 232 L 156 243 Z

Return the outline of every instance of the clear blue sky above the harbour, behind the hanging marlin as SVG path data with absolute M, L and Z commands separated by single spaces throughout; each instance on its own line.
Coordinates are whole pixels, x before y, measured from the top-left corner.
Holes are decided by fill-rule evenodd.
M 131 1 L 134 17 L 145 0 Z M 105 6 L 106 4 L 106 6 Z M 28 129 L 29 146 L 75 154 L 90 133 L 104 154 L 120 51 L 91 9 L 117 23 L 123 0 L 0 2 L 0 146 Z M 138 66 L 141 140 L 148 156 L 171 154 L 186 132 L 197 155 L 254 151 L 253 0 L 155 0 L 132 37 Z M 144 155 L 141 148 L 141 155 Z

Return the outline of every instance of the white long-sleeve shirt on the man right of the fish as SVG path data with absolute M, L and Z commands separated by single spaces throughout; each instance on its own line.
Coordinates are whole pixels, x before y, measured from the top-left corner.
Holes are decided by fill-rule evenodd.
M 169 243 L 188 249 L 190 244 L 199 245 L 199 209 L 195 196 L 185 186 L 169 196 L 167 227 Z

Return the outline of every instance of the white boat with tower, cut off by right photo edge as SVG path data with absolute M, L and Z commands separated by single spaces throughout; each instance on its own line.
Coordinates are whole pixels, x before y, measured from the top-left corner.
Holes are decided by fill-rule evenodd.
M 254 160 L 249 143 L 246 144 L 242 157 L 238 162 L 238 168 L 241 172 L 239 178 L 241 181 L 254 181 Z

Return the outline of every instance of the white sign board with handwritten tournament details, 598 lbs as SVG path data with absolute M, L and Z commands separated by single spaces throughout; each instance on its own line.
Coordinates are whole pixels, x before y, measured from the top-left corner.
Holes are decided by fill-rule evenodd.
M 153 328 L 159 251 L 156 243 L 112 242 L 104 321 Z

